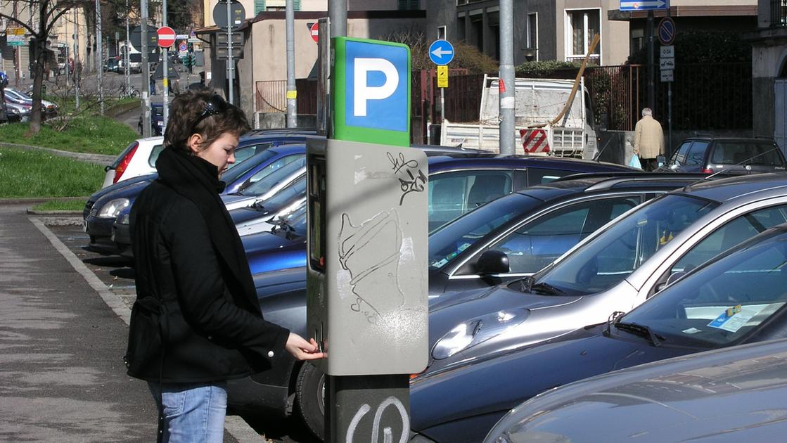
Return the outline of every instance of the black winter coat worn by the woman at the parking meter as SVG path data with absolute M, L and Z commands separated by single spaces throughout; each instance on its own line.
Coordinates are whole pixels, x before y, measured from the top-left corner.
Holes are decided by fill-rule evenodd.
M 263 319 L 216 166 L 165 149 L 131 208 L 137 299 L 128 375 L 214 382 L 271 367 L 289 331 Z

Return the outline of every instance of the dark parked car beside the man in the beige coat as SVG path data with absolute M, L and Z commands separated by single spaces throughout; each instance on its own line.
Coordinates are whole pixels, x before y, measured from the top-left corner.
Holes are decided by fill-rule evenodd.
M 730 174 L 784 171 L 787 161 L 770 138 L 691 137 L 678 145 L 661 170 Z

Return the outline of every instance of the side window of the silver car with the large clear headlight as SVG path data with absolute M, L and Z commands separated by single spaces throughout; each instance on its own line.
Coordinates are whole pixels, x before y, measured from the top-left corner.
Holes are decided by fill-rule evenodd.
M 787 222 L 787 205 L 775 206 L 773 208 L 759 209 L 759 211 L 749 212 L 739 216 L 724 226 L 713 231 L 708 237 L 694 245 L 688 253 L 678 260 L 671 268 L 672 272 L 691 271 L 692 269 L 711 260 L 720 253 L 730 249 L 734 245 L 756 234 L 765 231 L 769 227 Z

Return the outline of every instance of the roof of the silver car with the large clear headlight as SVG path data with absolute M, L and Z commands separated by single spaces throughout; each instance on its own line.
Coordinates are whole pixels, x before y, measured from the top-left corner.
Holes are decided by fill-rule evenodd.
M 720 203 L 733 200 L 745 203 L 784 195 L 787 192 L 787 173 L 771 172 L 705 180 L 676 192 Z

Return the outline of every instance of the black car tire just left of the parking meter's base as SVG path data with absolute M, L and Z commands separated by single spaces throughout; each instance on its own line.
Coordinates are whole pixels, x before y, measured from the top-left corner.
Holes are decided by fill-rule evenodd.
M 306 427 L 320 440 L 325 431 L 325 375 L 316 366 L 305 363 L 298 371 L 295 401 Z

